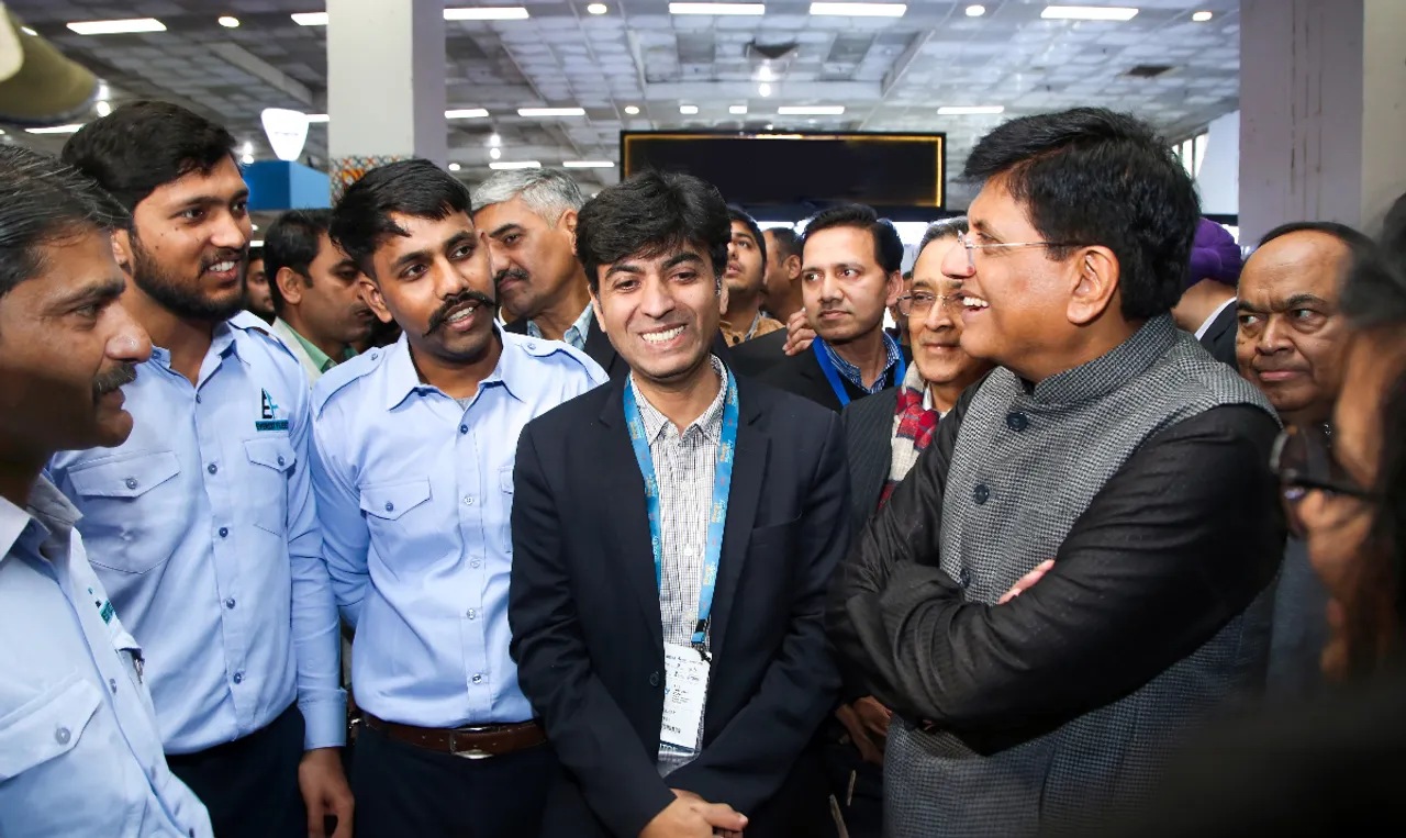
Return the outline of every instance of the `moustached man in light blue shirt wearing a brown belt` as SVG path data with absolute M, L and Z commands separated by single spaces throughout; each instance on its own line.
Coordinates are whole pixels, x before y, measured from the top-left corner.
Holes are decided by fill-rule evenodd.
M 513 456 L 605 373 L 495 325 L 468 190 L 427 160 L 349 187 L 332 238 L 402 329 L 312 395 L 328 569 L 356 626 L 357 835 L 536 837 L 558 768 L 508 655 Z

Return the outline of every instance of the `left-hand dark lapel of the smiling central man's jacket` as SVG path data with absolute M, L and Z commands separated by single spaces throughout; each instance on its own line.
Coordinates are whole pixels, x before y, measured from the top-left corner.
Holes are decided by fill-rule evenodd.
M 599 461 L 605 465 L 609 508 L 605 517 L 614 536 L 617 578 L 640 607 L 644 621 L 654 636 L 655 648 L 664 654 L 664 626 L 659 616 L 659 586 L 654 578 L 654 548 L 650 544 L 650 513 L 644 499 L 644 477 L 630 444 L 630 429 L 624 419 L 624 387 L 628 378 L 609 384 L 605 409 L 600 411 Z M 735 479 L 735 478 L 734 478 Z

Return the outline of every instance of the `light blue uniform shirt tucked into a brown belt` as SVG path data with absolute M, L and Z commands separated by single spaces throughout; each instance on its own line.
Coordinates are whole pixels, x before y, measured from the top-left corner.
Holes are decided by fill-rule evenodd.
M 498 367 L 467 408 L 420 381 L 405 336 L 312 392 L 328 569 L 356 626 L 352 692 L 387 721 L 533 717 L 508 657 L 517 436 L 606 374 L 565 343 L 499 335 Z

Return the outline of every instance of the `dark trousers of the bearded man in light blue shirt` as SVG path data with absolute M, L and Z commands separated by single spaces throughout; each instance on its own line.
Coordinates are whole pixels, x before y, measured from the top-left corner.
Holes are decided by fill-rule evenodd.
M 263 730 L 207 751 L 167 755 L 166 763 L 209 810 L 215 838 L 307 838 L 298 790 L 302 727 L 294 704 Z

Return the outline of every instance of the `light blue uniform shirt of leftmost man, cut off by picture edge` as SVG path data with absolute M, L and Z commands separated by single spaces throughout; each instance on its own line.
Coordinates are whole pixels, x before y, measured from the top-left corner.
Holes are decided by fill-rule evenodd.
M 0 835 L 208 838 L 77 516 L 42 478 L 28 509 L 0 498 Z

